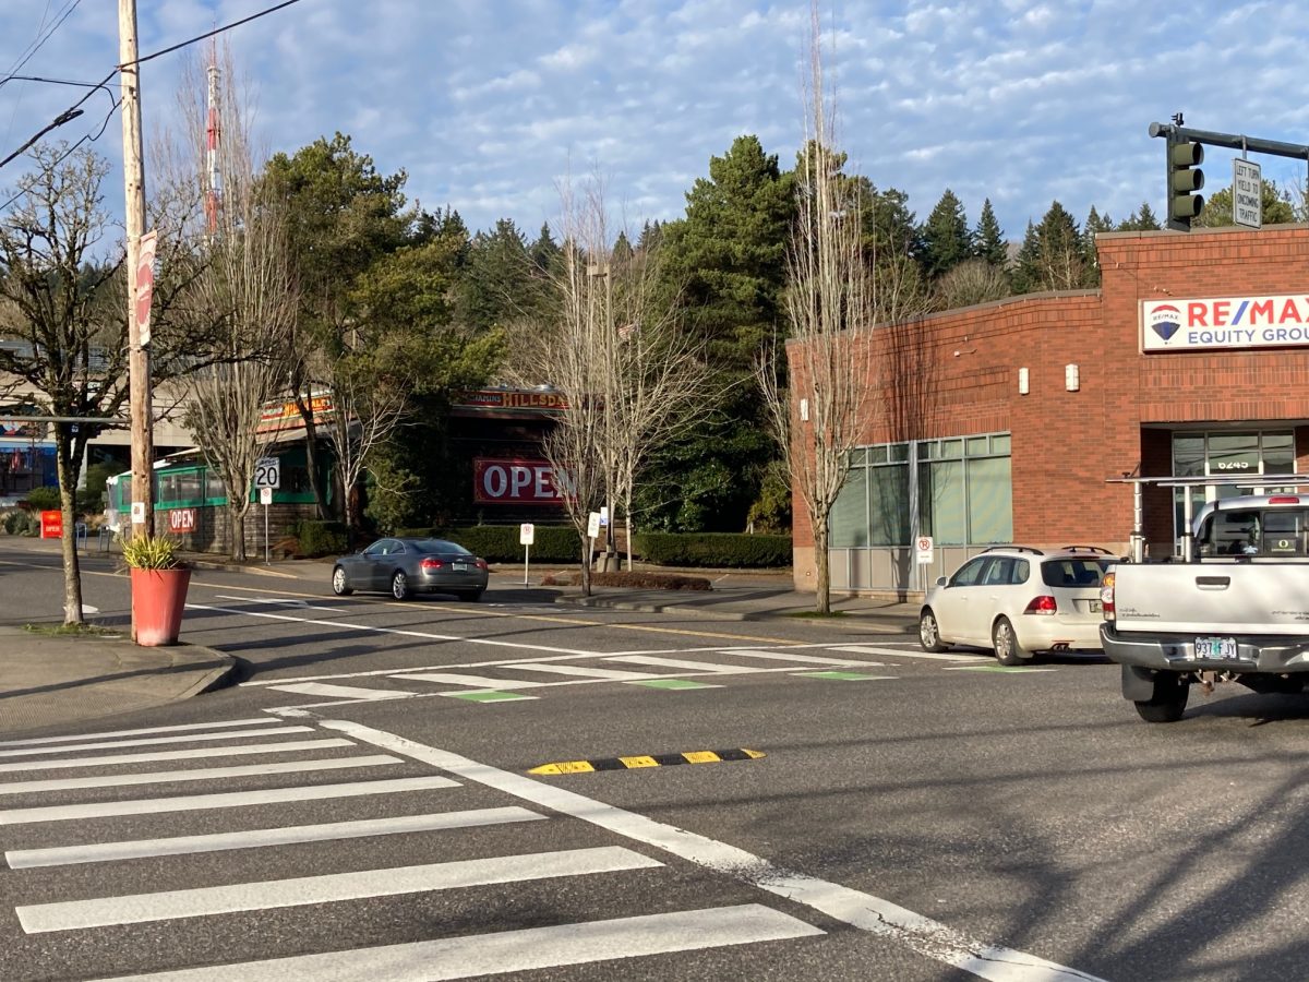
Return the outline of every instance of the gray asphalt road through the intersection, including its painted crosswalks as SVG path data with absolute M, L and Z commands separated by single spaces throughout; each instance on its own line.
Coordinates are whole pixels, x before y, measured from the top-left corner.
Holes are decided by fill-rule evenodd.
M 183 636 L 240 686 L 0 744 L 0 977 L 1305 975 L 1309 700 L 1151 727 L 1094 660 L 323 572 L 196 575 Z M 58 611 L 55 570 L 0 581 Z

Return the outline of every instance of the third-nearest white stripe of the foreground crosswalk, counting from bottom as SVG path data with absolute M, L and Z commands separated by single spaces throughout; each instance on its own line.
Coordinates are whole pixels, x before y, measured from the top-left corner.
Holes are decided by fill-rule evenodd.
M 369 835 L 399 835 L 414 831 L 440 831 L 445 829 L 471 829 L 482 825 L 530 822 L 546 816 L 526 808 L 479 808 L 467 812 L 437 812 L 433 814 L 403 814 L 394 818 L 361 818 L 350 822 L 323 825 L 295 825 L 280 829 L 249 829 L 245 831 L 215 833 L 212 835 L 178 835 L 169 839 L 132 839 L 101 842 L 85 846 L 50 846 L 46 848 L 20 848 L 5 852 L 10 869 L 30 869 L 45 865 L 77 865 L 81 863 L 114 863 L 123 859 L 149 856 L 181 856 L 191 852 L 221 852 L 262 846 L 289 846 L 298 842 L 331 839 L 359 839 Z

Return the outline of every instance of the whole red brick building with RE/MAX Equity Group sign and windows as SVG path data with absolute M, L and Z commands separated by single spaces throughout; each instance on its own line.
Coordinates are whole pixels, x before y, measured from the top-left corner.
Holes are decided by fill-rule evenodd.
M 1113 478 L 1250 477 L 1191 492 L 1208 500 L 1309 466 L 1309 225 L 1097 249 L 1098 291 L 867 333 L 873 409 L 833 509 L 834 589 L 911 594 L 995 542 L 1126 553 L 1132 494 Z M 1174 550 L 1181 494 L 1147 490 L 1152 555 Z M 795 515 L 796 583 L 813 589 L 798 495 Z

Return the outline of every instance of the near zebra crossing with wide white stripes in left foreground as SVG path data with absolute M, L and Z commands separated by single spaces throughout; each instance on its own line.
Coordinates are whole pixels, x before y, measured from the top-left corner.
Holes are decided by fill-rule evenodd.
M 270 716 L 0 742 L 0 977 L 416 981 L 825 934 L 753 888 L 689 890 L 657 850 L 340 727 Z M 243 755 L 255 762 L 228 763 Z M 675 902 L 641 909 L 631 877 Z M 555 888 L 593 893 L 601 915 L 524 927 L 484 913 L 487 890 L 548 910 Z M 445 917 L 378 937 L 377 903 Z M 367 924 L 352 932 L 338 906 Z M 314 932 L 325 910 L 332 927 Z M 478 930 L 444 936 L 461 915 Z

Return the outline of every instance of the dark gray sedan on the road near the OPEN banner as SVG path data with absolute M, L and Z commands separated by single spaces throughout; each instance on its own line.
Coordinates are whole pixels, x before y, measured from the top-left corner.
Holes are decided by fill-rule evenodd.
M 360 553 L 340 556 L 331 571 L 331 589 L 338 597 L 378 591 L 395 600 L 415 593 L 478 600 L 486 588 L 486 559 L 440 538 L 380 538 Z

